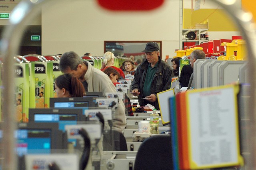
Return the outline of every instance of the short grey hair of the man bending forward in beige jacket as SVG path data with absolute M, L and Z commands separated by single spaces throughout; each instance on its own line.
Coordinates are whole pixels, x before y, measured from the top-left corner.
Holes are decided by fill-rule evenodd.
M 79 64 L 82 64 L 82 60 L 74 51 L 66 52 L 60 57 L 60 71 L 63 73 L 68 69 L 77 70 Z

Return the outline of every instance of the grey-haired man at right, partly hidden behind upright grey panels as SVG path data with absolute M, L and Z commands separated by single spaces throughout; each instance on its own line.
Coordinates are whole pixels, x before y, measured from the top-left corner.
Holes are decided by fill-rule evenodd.
M 190 64 L 191 67 L 194 69 L 194 62 L 197 59 L 205 59 L 205 53 L 204 51 L 200 50 L 200 49 L 196 49 L 194 50 L 191 54 L 190 54 Z M 190 80 L 188 83 L 188 89 L 193 89 L 194 88 L 194 73 L 191 74 L 190 76 Z M 187 90 L 188 90 L 187 89 Z

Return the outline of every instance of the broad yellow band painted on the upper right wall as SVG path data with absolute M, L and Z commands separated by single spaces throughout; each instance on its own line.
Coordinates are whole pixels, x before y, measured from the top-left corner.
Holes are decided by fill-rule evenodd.
M 200 9 L 192 11 L 183 9 L 184 29 L 192 29 L 196 23 L 201 23 L 208 19 L 208 31 L 239 31 L 222 9 Z

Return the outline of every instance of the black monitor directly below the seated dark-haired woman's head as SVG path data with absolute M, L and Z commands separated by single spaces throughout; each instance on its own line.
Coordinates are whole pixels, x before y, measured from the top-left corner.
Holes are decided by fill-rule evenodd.
M 88 107 L 95 107 L 95 97 L 63 97 L 50 98 L 50 107 L 58 108 L 73 108 L 79 107 L 88 109 Z

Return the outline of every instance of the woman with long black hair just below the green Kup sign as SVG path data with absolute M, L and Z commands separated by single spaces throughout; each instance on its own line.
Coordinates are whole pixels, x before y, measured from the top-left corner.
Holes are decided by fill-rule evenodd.
M 182 67 L 180 72 L 180 78 L 179 78 L 181 87 L 188 87 L 188 82 L 192 73 L 193 73 L 193 69 L 191 65 L 184 65 Z

